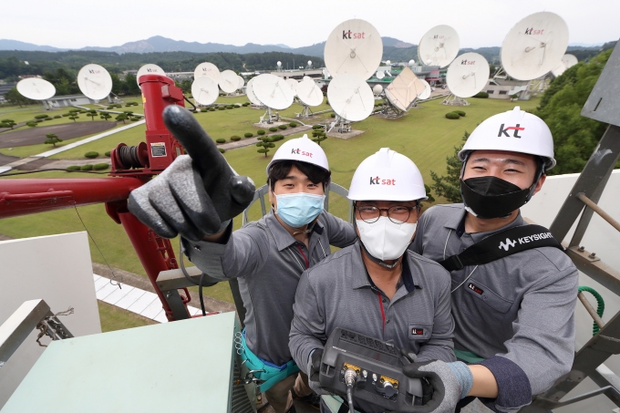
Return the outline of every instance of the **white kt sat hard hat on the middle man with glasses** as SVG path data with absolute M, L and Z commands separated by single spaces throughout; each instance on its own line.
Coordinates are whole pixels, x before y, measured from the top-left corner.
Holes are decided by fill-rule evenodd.
M 351 201 L 427 200 L 422 174 L 405 155 L 381 148 L 370 155 L 353 174 L 348 199 Z

